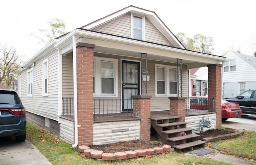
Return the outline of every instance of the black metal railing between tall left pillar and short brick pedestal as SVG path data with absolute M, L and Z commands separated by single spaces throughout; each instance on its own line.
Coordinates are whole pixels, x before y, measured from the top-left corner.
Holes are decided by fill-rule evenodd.
M 93 99 L 94 119 L 99 117 L 135 116 L 134 99 Z

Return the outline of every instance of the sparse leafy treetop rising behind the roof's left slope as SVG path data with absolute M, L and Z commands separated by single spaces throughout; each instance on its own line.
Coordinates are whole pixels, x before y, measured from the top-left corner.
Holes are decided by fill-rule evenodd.
M 39 42 L 43 42 L 45 45 L 54 40 L 55 38 L 66 34 L 66 24 L 63 20 L 58 18 L 48 21 L 50 25 L 49 29 L 39 29 L 40 34 L 32 33 L 32 36 L 38 38 Z

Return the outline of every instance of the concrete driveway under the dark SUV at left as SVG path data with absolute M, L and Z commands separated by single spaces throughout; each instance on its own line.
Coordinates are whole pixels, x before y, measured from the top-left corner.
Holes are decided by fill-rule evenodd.
M 0 165 L 52 165 L 29 141 L 0 137 Z

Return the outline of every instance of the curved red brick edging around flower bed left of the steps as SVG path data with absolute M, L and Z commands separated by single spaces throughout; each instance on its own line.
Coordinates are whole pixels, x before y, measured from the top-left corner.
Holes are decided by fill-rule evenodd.
M 95 149 L 90 149 L 86 145 L 78 147 L 80 152 L 83 152 L 85 156 L 102 161 L 114 161 L 124 160 L 135 157 L 142 157 L 146 155 L 160 154 L 163 152 L 174 152 L 174 149 L 170 145 L 163 145 L 162 147 L 154 147 L 150 149 L 137 149 L 134 151 L 116 152 L 116 153 L 103 153 Z

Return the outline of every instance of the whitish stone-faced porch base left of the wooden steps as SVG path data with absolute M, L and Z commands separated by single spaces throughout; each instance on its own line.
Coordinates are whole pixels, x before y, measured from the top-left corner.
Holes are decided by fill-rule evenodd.
M 140 119 L 93 124 L 93 144 L 104 145 L 140 139 Z

